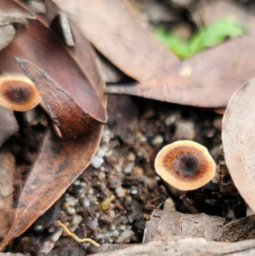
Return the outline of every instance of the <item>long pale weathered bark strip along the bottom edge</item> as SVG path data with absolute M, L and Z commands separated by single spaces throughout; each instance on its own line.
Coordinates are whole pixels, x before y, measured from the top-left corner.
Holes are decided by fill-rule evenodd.
M 152 241 L 142 245 L 94 256 L 254 256 L 255 240 L 237 243 L 207 241 L 202 237 L 166 236 L 163 241 Z

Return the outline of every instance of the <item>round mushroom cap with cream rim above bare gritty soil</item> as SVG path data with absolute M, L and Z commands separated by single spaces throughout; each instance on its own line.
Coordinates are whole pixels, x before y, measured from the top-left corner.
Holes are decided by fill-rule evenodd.
M 159 151 L 155 159 L 157 174 L 179 190 L 196 190 L 207 184 L 215 173 L 215 162 L 206 147 L 180 140 Z

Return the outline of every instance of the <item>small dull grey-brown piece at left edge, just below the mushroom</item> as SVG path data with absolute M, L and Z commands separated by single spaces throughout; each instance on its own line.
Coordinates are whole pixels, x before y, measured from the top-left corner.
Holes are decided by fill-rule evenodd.
M 15 132 L 18 132 L 18 123 L 13 110 L 0 105 L 0 146 Z

